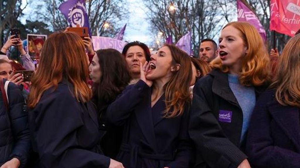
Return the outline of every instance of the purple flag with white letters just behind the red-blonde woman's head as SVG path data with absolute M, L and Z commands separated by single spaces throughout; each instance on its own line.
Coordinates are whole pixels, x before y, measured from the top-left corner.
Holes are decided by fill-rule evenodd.
M 253 25 L 257 29 L 260 36 L 262 37 L 262 40 L 265 41 L 266 40 L 265 29 L 262 27 L 262 24 L 259 22 L 257 16 L 242 1 L 237 0 L 237 6 L 238 6 L 238 21 L 248 22 L 251 25 Z

